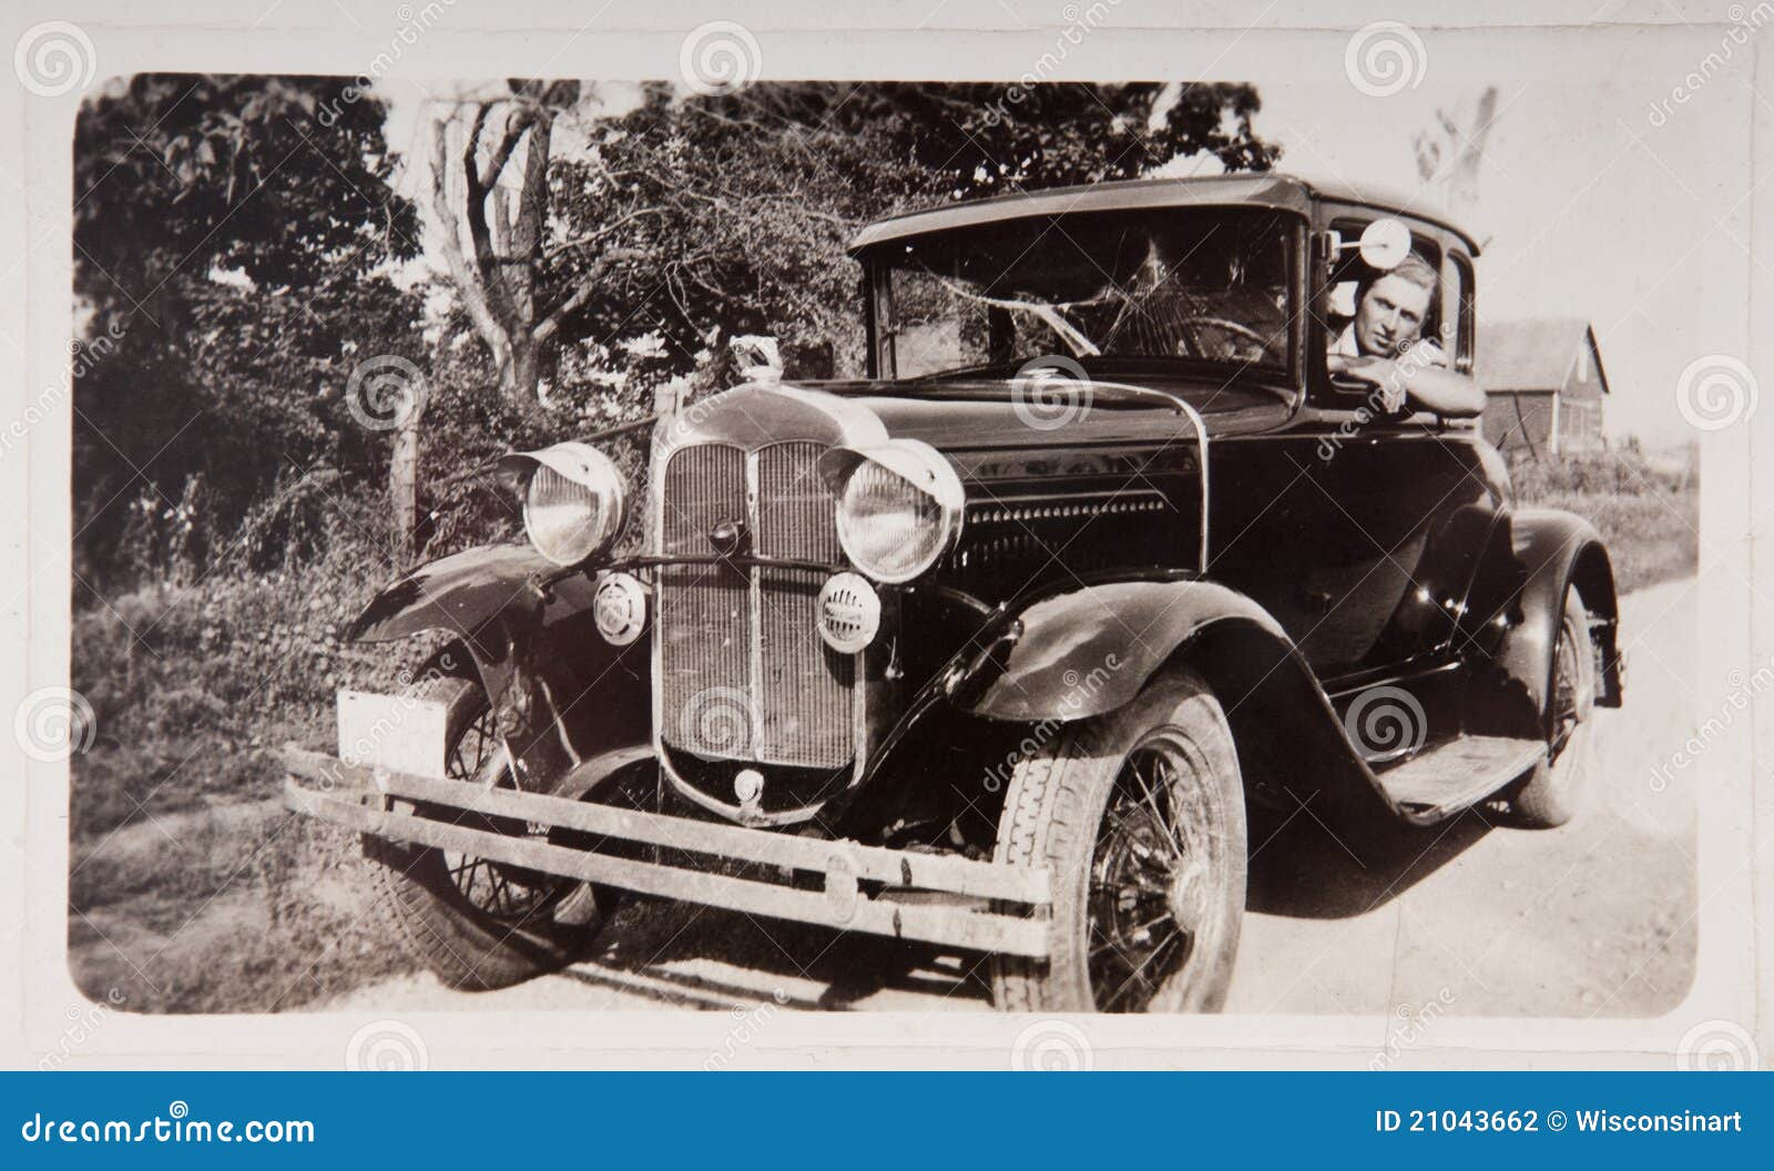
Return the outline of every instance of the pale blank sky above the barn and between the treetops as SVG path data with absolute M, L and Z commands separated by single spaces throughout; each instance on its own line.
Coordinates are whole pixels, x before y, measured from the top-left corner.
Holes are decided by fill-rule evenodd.
M 1276 53 L 1244 71 L 1228 59 L 1235 73 L 1213 80 L 1258 87 L 1256 131 L 1283 147 L 1281 170 L 1371 183 L 1426 204 L 1439 192 L 1417 170 L 1419 131 L 1439 126 L 1442 112 L 1476 137 L 1476 99 L 1495 87 L 1476 200 L 1458 215 L 1483 245 L 1480 319 L 1586 318 L 1611 387 L 1607 431 L 1648 445 L 1692 438 L 1676 406 L 1684 371 L 1708 355 L 1747 357 L 1758 263 L 1747 252 L 1756 181 L 1747 137 L 1749 112 L 1763 101 L 1751 89 L 1749 50 L 1719 27 L 1426 30 L 1417 39 L 1400 59 L 1403 82 L 1368 87 L 1396 92 L 1364 92 L 1346 69 L 1316 59 L 1277 69 Z M 1309 44 L 1313 53 L 1338 48 Z M 1714 60 L 1703 64 L 1708 53 Z M 633 99 L 632 83 L 591 92 L 610 114 Z M 438 106 L 410 83 L 383 96 L 389 140 L 408 167 L 399 186 L 429 208 L 426 124 Z M 582 145 L 562 130 L 557 151 Z M 442 271 L 436 257 L 426 264 Z

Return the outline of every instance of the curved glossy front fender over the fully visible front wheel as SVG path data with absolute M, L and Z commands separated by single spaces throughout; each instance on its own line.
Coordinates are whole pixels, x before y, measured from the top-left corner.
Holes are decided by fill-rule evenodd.
M 976 715 L 1075 720 L 1114 711 L 1169 665 L 1197 671 L 1226 710 L 1245 784 L 1309 802 L 1350 829 L 1396 814 L 1304 655 L 1268 610 L 1213 582 L 1102 582 L 1034 601 Z M 1281 798 L 1284 804 L 1286 797 Z

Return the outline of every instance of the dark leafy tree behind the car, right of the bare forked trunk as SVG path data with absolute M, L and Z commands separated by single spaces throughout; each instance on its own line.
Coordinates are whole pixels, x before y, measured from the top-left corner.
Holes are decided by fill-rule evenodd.
M 552 167 L 561 236 L 538 279 L 559 298 L 578 291 L 566 298 L 561 381 L 612 369 L 683 376 L 718 364 L 734 334 L 777 335 L 811 374 L 859 373 L 857 270 L 844 247 L 866 222 L 1137 177 L 1176 156 L 1206 153 L 1229 170 L 1277 156 L 1251 126 L 1260 99 L 1249 85 L 1015 94 L 983 83 L 788 83 L 690 99 L 648 89 Z

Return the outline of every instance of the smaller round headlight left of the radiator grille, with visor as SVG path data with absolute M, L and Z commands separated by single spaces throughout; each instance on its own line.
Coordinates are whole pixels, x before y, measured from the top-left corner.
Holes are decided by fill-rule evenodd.
M 509 461 L 529 465 L 523 488 L 523 532 L 536 552 L 559 566 L 575 566 L 603 552 L 623 529 L 628 490 L 623 474 L 589 444 L 555 444 Z

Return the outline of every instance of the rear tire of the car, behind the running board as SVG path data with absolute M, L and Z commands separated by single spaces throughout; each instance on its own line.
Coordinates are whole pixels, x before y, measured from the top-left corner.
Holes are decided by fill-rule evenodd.
M 1588 807 L 1595 790 L 1595 644 L 1577 587 L 1565 591 L 1565 614 L 1552 644 L 1547 690 L 1547 756 L 1522 781 L 1510 809 L 1527 829 L 1565 825 Z

